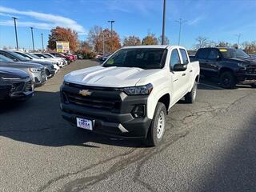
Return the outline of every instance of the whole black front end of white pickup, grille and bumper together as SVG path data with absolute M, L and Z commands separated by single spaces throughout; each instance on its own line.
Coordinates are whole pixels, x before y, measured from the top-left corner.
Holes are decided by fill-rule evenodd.
M 90 87 L 85 87 L 90 90 Z M 94 122 L 93 132 L 117 138 L 146 138 L 151 119 L 147 118 L 146 106 L 148 96 L 128 96 L 119 91 L 91 90 L 90 96 L 82 97 L 76 87 L 62 86 L 62 117 L 77 126 L 77 118 Z M 113 102 L 113 108 L 106 110 L 102 102 Z M 114 99 L 114 101 L 110 101 Z M 96 107 L 98 106 L 98 107 Z M 144 114 L 134 115 L 134 109 L 142 106 Z

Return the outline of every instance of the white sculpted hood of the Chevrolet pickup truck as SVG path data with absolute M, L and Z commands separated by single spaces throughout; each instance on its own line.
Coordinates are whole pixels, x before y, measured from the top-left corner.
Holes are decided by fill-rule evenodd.
M 137 86 L 142 78 L 144 79 L 142 82 L 146 83 L 146 78 L 155 72 L 156 70 L 143 70 L 134 67 L 93 66 L 66 74 L 64 81 L 85 86 Z

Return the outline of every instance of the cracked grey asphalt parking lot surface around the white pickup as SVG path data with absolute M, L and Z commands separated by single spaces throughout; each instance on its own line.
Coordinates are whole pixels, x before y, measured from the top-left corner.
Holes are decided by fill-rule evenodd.
M 168 115 L 165 141 L 105 138 L 70 126 L 59 110 L 66 66 L 34 98 L 2 103 L 0 191 L 256 191 L 256 89 L 202 80 L 197 102 Z

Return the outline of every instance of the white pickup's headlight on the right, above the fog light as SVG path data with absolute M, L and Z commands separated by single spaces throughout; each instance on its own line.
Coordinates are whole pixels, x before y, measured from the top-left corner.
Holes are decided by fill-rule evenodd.
M 130 86 L 123 88 L 123 90 L 128 95 L 150 94 L 153 90 L 153 85 L 149 83 L 146 86 Z

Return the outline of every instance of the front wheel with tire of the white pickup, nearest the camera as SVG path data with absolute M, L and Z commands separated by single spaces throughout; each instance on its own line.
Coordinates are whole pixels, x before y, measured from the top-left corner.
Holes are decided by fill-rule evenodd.
M 162 120 L 161 120 L 162 119 Z M 162 126 L 159 124 L 162 121 Z M 158 130 L 158 126 L 161 127 L 161 131 Z M 150 124 L 150 129 L 146 138 L 146 146 L 159 146 L 162 142 L 166 130 L 166 106 L 162 102 L 158 102 L 155 111 L 154 118 Z

